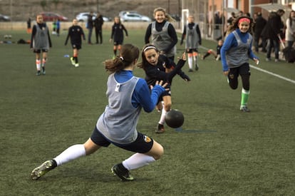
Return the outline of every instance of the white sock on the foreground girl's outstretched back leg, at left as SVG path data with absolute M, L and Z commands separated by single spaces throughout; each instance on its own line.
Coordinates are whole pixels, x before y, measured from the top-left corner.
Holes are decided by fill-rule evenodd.
M 86 150 L 84 148 L 84 145 L 76 144 L 70 146 L 69 148 L 64 150 L 63 153 L 59 154 L 56 158 L 53 159 L 56 160 L 57 165 L 63 165 L 64 163 L 68 163 L 71 160 L 80 158 L 85 155 Z

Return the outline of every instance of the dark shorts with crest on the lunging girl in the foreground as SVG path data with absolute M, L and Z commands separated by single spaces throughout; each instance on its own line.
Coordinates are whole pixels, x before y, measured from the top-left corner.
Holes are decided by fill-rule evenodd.
M 100 133 L 99 130 L 96 128 L 96 126 L 93 130 L 93 133 L 90 139 L 96 145 L 108 147 L 112 143 L 113 145 L 116 145 L 119 148 L 123 148 L 125 150 L 129 150 L 135 153 L 148 153 L 150 149 L 152 149 L 152 145 L 154 143 L 154 140 L 152 140 L 152 138 L 139 132 L 138 132 L 138 138 L 136 138 L 136 140 L 133 143 L 128 143 L 128 144 L 114 143 L 108 140 L 107 138 L 105 138 L 105 136 L 102 133 Z

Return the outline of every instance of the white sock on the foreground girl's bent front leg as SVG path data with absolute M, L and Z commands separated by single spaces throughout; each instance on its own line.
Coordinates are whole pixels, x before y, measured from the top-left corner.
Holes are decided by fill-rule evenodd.
M 139 167 L 149 165 L 154 161 L 155 159 L 149 155 L 135 153 L 130 158 L 124 160 L 122 164 L 127 170 L 135 170 Z

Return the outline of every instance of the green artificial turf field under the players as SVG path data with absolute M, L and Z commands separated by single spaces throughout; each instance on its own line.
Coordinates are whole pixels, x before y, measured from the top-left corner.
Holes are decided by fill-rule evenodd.
M 11 41 L 30 38 L 1 31 L 0 40 L 7 33 Z M 142 48 L 145 32 L 128 33 L 125 43 Z M 84 42 L 75 68 L 64 57 L 72 53 L 63 45 L 66 32 L 51 35 L 46 76 L 35 76 L 28 44 L 0 44 L 0 195 L 295 195 L 295 65 L 266 62 L 264 53 L 258 67 L 269 72 L 251 69 L 250 113 L 239 110 L 241 83 L 229 88 L 220 61 L 209 56 L 192 73 L 186 65 L 192 81 L 177 76 L 172 84 L 172 108 L 185 123 L 156 134 L 160 113 L 142 112 L 138 131 L 161 143 L 165 155 L 131 171 L 134 182 L 110 172 L 132 155 L 113 145 L 31 180 L 34 167 L 90 137 L 107 104 L 109 37 L 104 31 L 102 45 Z M 203 40 L 200 53 L 216 44 Z M 181 56 L 184 46 L 177 47 Z M 144 77 L 140 69 L 135 75 Z

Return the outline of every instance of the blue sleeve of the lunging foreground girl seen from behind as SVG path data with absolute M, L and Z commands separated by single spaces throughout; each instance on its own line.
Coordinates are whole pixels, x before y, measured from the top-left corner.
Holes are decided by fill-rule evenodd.
M 137 107 L 138 105 L 141 105 L 145 112 L 150 113 L 155 109 L 157 100 L 164 91 L 165 88 L 156 85 L 154 88 L 152 88 L 152 92 L 150 93 L 148 83 L 143 78 L 140 78 L 133 93 L 133 106 Z

